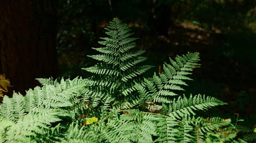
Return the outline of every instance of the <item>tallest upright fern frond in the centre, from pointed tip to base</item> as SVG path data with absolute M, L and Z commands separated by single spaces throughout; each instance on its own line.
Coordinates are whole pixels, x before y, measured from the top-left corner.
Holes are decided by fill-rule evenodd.
M 146 57 L 141 56 L 145 51 L 132 49 L 136 47 L 134 41 L 137 38 L 131 37 L 133 33 L 121 20 L 114 18 L 106 30 L 108 37 L 101 38 L 99 42 L 103 46 L 93 48 L 101 54 L 89 56 L 102 63 L 83 68 L 96 74 L 86 80 L 86 88 L 91 90 L 91 96 L 85 101 L 90 107 L 103 106 L 104 110 L 110 109 L 115 99 L 121 99 L 121 102 L 115 102 L 119 106 L 125 105 L 123 101 L 129 102 L 130 106 L 137 106 L 140 99 L 132 80 L 141 83 L 139 76 L 153 66 L 141 66 L 141 62 L 146 60 Z

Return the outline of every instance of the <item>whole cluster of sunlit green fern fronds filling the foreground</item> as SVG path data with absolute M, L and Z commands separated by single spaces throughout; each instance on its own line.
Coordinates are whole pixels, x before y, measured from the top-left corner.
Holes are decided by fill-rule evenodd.
M 4 96 L 0 104 L 1 143 L 246 143 L 250 129 L 231 119 L 198 112 L 226 103 L 207 95 L 183 95 L 186 81 L 200 64 L 199 53 L 177 56 L 151 78 L 132 33 L 114 18 L 100 61 L 83 68 L 87 79 L 38 79 L 25 96 Z

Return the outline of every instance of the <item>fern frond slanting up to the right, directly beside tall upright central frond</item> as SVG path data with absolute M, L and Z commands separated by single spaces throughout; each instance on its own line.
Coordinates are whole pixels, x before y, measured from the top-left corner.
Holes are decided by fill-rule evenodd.
M 175 57 L 175 61 L 170 58 L 171 64 L 165 63 L 163 73 L 154 74 L 152 79 L 144 79 L 142 84 L 145 87 L 144 93 L 148 92 L 149 101 L 170 103 L 171 97 L 177 95 L 175 90 L 184 90 L 182 86 L 187 84 L 184 80 L 191 80 L 187 75 L 191 74 L 193 68 L 200 64 L 199 53 L 188 53 Z

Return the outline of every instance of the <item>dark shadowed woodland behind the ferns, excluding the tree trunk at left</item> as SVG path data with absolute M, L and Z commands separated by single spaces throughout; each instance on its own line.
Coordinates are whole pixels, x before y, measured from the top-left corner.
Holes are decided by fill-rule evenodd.
M 61 76 L 90 76 L 81 70 L 95 62 L 86 55 L 95 54 L 91 48 L 99 47 L 103 28 L 118 17 L 140 38 L 137 46 L 147 51 L 147 64 L 156 66 L 151 72 L 168 57 L 200 52 L 202 66 L 187 92 L 217 97 L 229 103 L 217 110 L 239 113 L 245 124 L 255 125 L 255 0 L 60 0 L 57 5 Z

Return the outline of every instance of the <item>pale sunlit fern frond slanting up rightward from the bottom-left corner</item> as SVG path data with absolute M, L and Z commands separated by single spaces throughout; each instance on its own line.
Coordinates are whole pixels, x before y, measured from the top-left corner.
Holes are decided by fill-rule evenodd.
M 51 123 L 61 121 L 58 116 L 63 114 L 66 113 L 61 110 L 34 110 L 9 128 L 6 132 L 6 140 L 30 142 L 31 136 L 40 137 L 43 135 L 43 129 L 49 130 Z

